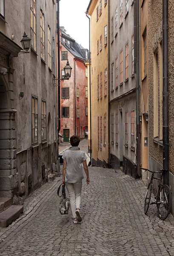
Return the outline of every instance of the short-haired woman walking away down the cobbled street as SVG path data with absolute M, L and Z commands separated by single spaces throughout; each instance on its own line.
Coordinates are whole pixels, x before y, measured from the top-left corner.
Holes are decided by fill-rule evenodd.
M 80 203 L 81 203 L 81 190 L 83 168 L 86 172 L 86 182 L 90 182 L 88 174 L 88 166 L 86 163 L 86 154 L 78 147 L 80 138 L 78 136 L 72 136 L 70 138 L 71 147 L 63 153 L 63 177 L 62 185 L 66 185 L 71 205 L 71 213 L 73 217 L 73 223 L 82 221 L 80 215 Z M 82 166 L 83 164 L 83 166 Z

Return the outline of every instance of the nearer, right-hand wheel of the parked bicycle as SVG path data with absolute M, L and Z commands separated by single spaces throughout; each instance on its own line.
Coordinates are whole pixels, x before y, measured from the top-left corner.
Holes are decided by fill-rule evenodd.
M 158 216 L 161 220 L 165 220 L 171 209 L 171 191 L 167 185 L 161 186 L 157 196 Z

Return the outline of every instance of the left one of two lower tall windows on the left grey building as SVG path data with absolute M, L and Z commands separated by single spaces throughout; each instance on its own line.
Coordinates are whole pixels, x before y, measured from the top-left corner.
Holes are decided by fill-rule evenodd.
M 38 99 L 36 96 L 31 98 L 31 134 L 32 134 L 32 144 L 38 142 L 38 131 L 37 131 L 37 112 L 38 109 Z

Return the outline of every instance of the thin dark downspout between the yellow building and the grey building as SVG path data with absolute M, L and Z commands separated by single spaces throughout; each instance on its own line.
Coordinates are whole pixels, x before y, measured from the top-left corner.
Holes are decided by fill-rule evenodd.
M 110 0 L 108 0 L 108 167 L 111 168 L 110 142 Z

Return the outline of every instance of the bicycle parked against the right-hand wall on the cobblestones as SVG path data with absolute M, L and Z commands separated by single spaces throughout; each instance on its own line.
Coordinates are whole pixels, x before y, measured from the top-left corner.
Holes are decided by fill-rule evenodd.
M 171 209 L 171 191 L 168 185 L 163 185 L 163 175 L 166 170 L 160 170 L 157 172 L 152 172 L 145 168 L 140 168 L 141 170 L 145 170 L 151 172 L 151 180 L 148 184 L 147 192 L 145 194 L 145 203 L 144 203 L 144 213 L 145 215 L 148 212 L 148 208 L 150 204 L 157 205 L 158 216 L 161 220 L 165 220 Z M 160 173 L 160 178 L 154 177 L 154 174 Z M 160 180 L 160 184 L 158 185 L 158 192 L 157 189 L 154 188 L 153 180 Z M 153 190 L 155 201 L 151 202 L 151 191 Z M 157 195 L 156 195 L 157 192 Z

